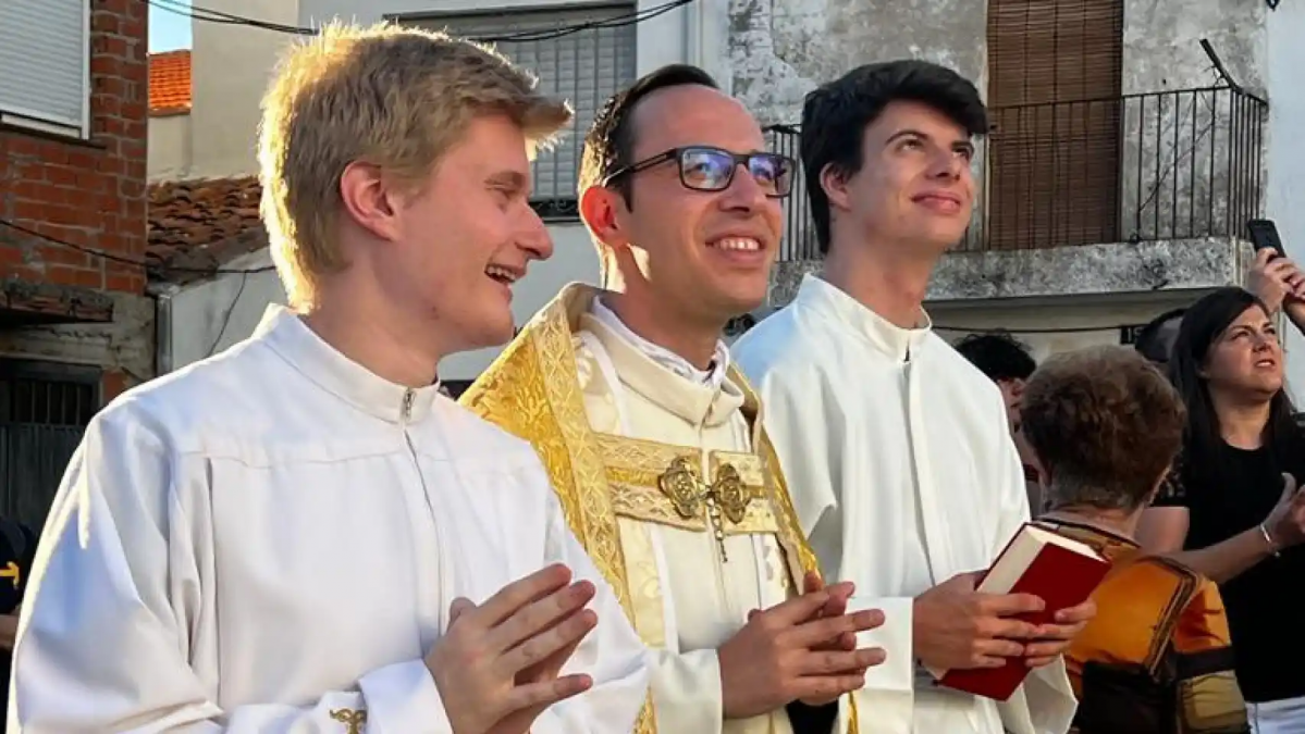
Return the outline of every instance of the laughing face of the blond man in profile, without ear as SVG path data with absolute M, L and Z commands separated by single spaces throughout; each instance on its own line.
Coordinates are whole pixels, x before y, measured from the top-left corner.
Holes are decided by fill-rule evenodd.
M 530 160 L 521 128 L 475 119 L 419 190 L 402 201 L 381 282 L 433 317 L 448 351 L 512 339 L 512 284 L 552 254 L 530 207 Z

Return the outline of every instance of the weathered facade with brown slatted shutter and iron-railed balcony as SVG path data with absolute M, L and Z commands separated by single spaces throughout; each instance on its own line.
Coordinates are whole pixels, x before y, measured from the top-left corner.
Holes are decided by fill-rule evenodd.
M 806 91 L 882 59 L 946 64 L 985 94 L 975 219 L 929 292 L 951 336 L 1010 329 L 1039 356 L 1128 340 L 1242 283 L 1255 216 L 1305 258 L 1300 4 L 775 0 L 728 16 L 732 91 L 765 124 L 796 124 Z M 788 224 L 771 308 L 820 267 L 801 194 Z M 1305 342 L 1288 347 L 1302 386 Z

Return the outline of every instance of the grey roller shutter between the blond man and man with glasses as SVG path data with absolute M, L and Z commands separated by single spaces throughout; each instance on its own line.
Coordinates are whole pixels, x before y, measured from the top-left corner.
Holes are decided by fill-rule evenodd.
M 629 18 L 633 12 L 630 5 L 617 5 L 497 10 L 420 21 L 424 27 L 471 39 L 522 34 L 542 37 L 493 43 L 500 53 L 536 74 L 542 91 L 566 99 L 576 110 L 576 119 L 559 145 L 542 151 L 535 160 L 534 201 L 576 199 L 585 134 L 607 99 L 634 81 L 637 23 L 611 22 Z M 603 22 L 608 25 L 595 25 Z M 581 25 L 589 27 L 559 34 L 560 27 L 569 30 Z

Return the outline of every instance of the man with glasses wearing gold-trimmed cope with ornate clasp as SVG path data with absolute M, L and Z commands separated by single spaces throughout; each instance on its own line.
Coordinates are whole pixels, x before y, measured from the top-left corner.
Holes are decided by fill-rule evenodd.
M 766 297 L 795 168 L 699 69 L 616 95 L 579 181 L 606 289 L 565 288 L 462 398 L 535 445 L 652 648 L 641 733 L 829 734 L 882 660 L 855 649 L 882 617 L 823 587 L 722 342 Z

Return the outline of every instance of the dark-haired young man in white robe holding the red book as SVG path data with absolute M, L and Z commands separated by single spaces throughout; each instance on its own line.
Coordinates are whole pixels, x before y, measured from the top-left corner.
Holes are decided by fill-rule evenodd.
M 1000 391 L 923 302 L 970 224 L 987 129 L 974 85 L 925 61 L 810 93 L 801 151 L 825 269 L 735 344 L 803 531 L 831 578 L 856 583 L 851 609 L 883 610 L 887 662 L 856 694 L 874 734 L 1064 733 L 1061 653 L 1094 614 L 1088 602 L 1034 626 L 1017 615 L 1040 598 L 975 591 L 1028 501 Z M 933 673 L 1007 658 L 1034 670 L 1005 703 L 934 686 Z

